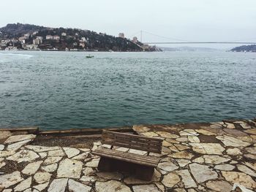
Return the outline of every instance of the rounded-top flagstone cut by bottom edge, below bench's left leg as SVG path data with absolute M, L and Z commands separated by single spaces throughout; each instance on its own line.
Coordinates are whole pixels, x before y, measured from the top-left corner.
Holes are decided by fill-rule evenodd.
M 131 190 L 127 185 L 124 185 L 121 182 L 118 182 L 116 180 L 110 180 L 107 182 L 99 182 L 97 181 L 95 183 L 95 189 L 97 192 L 130 192 Z

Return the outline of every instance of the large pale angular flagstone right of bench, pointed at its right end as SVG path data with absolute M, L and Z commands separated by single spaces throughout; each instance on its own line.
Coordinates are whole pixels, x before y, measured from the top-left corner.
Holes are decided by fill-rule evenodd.
M 189 168 L 197 183 L 203 183 L 207 180 L 215 180 L 218 178 L 217 172 L 214 172 L 206 165 L 194 163 L 189 164 Z

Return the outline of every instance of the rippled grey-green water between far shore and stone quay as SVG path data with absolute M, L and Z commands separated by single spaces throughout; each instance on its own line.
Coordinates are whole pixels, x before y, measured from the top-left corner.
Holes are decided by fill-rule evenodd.
M 0 127 L 256 117 L 256 53 L 1 51 Z

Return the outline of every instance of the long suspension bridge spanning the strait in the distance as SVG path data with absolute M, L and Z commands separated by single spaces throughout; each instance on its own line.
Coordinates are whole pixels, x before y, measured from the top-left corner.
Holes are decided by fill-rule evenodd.
M 243 45 L 252 45 L 252 44 L 256 44 L 256 38 L 254 38 L 252 41 L 252 39 L 247 39 L 249 40 L 249 42 L 247 41 L 241 41 L 241 40 L 236 40 L 236 41 L 205 41 L 205 42 L 200 42 L 200 41 L 191 41 L 191 40 L 184 40 L 184 39 L 178 39 L 178 38 L 170 38 L 170 37 L 163 37 L 160 36 L 158 34 L 153 34 L 151 32 L 148 31 L 138 31 L 135 34 L 133 34 L 132 36 L 135 36 L 136 34 L 140 34 L 140 42 L 142 42 L 143 44 L 148 44 L 148 45 L 161 45 L 161 44 L 243 44 Z M 153 37 L 159 37 L 161 39 L 165 39 L 165 41 L 163 42 L 143 42 L 143 34 L 149 34 Z

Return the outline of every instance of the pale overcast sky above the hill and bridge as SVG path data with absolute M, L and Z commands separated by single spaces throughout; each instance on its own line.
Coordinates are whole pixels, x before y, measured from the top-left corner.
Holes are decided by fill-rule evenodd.
M 30 23 L 113 36 L 123 32 L 127 38 L 140 39 L 143 31 L 143 42 L 256 42 L 255 0 L 2 0 L 0 18 L 0 26 Z M 184 45 L 165 45 L 177 46 Z

